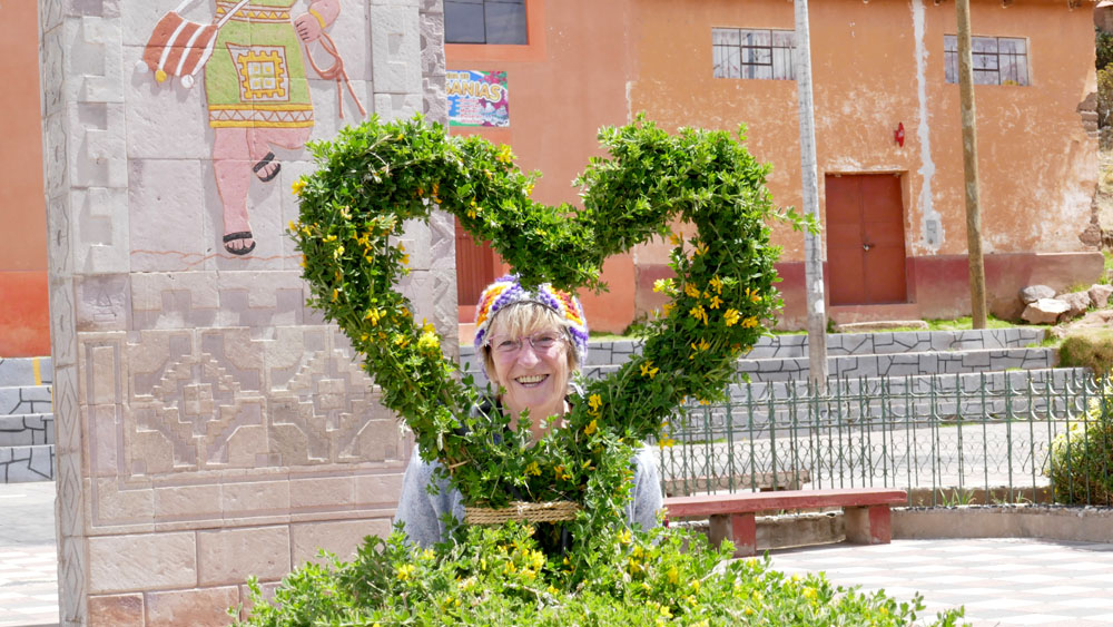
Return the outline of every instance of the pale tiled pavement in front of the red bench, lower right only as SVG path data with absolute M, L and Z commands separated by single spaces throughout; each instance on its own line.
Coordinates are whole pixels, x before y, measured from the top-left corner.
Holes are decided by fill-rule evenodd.
M 894 540 L 777 551 L 785 572 L 825 571 L 843 586 L 919 591 L 924 618 L 957 606 L 982 625 L 1113 625 L 1113 545 L 1026 539 Z

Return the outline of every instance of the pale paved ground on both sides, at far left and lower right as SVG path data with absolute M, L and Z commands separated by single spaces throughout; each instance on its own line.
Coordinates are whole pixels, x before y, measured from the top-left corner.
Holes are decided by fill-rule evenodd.
M 0 484 L 0 627 L 57 625 L 55 484 Z M 988 625 L 1113 625 L 1113 545 L 1037 540 L 896 540 L 772 553 L 786 572 L 828 579 L 897 600 L 919 591 L 924 618 L 965 606 Z

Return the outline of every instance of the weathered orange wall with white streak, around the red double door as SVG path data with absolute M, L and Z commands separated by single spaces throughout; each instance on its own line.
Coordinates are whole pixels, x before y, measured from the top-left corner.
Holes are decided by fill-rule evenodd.
M 972 2 L 975 36 L 1027 39 L 1028 86 L 975 88 L 981 212 L 991 312 L 1020 314 L 1016 292 L 1097 278 L 1100 255 L 1081 237 L 1091 225 L 1097 176 L 1096 129 L 1080 106 L 1096 91 L 1090 6 Z M 791 3 L 708 0 L 639 2 L 639 74 L 631 110 L 666 126 L 733 128 L 774 167 L 781 206 L 801 204 L 797 86 L 790 80 L 713 78 L 711 28 L 792 29 Z M 923 0 L 810 3 L 819 175 L 893 173 L 902 179 L 908 303 L 874 307 L 893 317 L 969 312 L 958 86 L 945 81 L 944 35 L 957 30 L 953 3 Z M 903 125 L 904 146 L 894 139 Z M 1091 125 L 1092 126 L 1092 125 Z M 825 234 L 826 235 L 826 234 Z M 784 247 L 785 321 L 804 323 L 802 237 L 776 232 Z M 653 304 L 667 273 L 663 246 L 637 252 L 638 295 Z M 827 256 L 827 264 L 839 259 Z M 840 322 L 870 307 L 834 308 Z

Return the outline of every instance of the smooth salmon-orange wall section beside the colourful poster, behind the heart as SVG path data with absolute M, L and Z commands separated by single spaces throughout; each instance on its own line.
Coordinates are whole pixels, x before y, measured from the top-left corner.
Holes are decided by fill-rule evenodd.
M 627 26 L 637 20 L 636 3 L 526 0 L 525 6 L 529 45 L 445 46 L 447 69 L 504 70 L 510 89 L 509 127 L 456 127 L 453 133 L 509 144 L 523 170 L 543 175 L 535 199 L 574 204 L 572 179 L 589 157 L 601 155 L 597 131 L 630 117 L 627 87 L 637 49 Z M 603 267 L 610 291 L 580 294 L 593 330 L 618 332 L 633 320 L 634 265 L 632 254 L 612 257 Z

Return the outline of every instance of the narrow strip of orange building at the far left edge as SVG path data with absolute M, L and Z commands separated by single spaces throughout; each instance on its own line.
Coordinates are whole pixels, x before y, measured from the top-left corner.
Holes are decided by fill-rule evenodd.
M 0 16 L 0 357 L 48 355 L 37 3 Z

